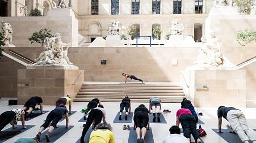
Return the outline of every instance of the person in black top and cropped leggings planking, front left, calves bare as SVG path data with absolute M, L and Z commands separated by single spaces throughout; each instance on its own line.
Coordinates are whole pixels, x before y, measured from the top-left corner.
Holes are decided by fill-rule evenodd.
M 66 117 L 66 128 L 69 128 L 69 114 L 68 110 L 66 109 L 66 106 L 61 104 L 59 107 L 56 107 L 54 110 L 52 110 L 48 115 L 43 125 L 41 125 L 39 132 L 36 135 L 36 139 L 40 141 L 41 133 L 48 127 L 48 125 L 51 123 L 48 132 L 45 134 L 45 138 L 47 142 L 50 141 L 50 134 L 54 130 L 54 128 L 57 128 L 57 123 L 61 120 L 62 116 L 65 115 Z

